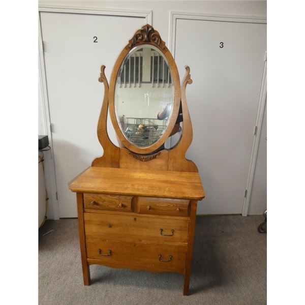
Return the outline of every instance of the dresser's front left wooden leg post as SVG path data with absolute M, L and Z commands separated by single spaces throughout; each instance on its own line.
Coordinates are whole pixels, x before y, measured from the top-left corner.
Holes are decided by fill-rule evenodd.
M 81 255 L 81 266 L 83 270 L 84 285 L 90 285 L 90 268 L 87 264 L 85 229 L 84 229 L 84 214 L 83 214 L 83 194 L 77 193 L 77 214 L 78 214 L 78 233 Z

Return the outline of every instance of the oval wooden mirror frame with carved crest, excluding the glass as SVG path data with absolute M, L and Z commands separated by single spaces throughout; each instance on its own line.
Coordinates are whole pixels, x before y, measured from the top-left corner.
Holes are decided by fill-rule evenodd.
M 158 139 L 158 141 L 146 147 L 135 146 L 134 144 L 132 144 L 127 140 L 127 138 L 123 134 L 123 131 L 121 131 L 119 127 L 119 123 L 117 121 L 116 112 L 115 112 L 115 106 L 114 106 L 114 90 L 115 90 L 116 78 L 119 72 L 119 68 L 121 67 L 121 64 L 124 62 L 124 59 L 128 55 L 128 53 L 134 47 L 139 45 L 153 45 L 157 47 L 161 53 L 163 53 L 163 55 L 167 59 L 168 66 L 171 72 L 172 83 L 174 85 L 174 101 L 173 101 L 172 114 L 165 129 L 165 132 Z M 180 79 L 175 60 L 169 49 L 165 46 L 165 42 L 161 39 L 160 34 L 157 31 L 155 31 L 153 26 L 146 24 L 142 26 L 141 29 L 139 29 L 134 34 L 133 38 L 129 41 L 129 43 L 124 47 L 123 51 L 121 51 L 121 53 L 119 54 L 114 64 L 110 78 L 109 113 L 120 147 L 125 146 L 126 148 L 137 154 L 153 153 L 168 139 L 170 133 L 172 132 L 178 116 L 180 100 L 181 100 Z

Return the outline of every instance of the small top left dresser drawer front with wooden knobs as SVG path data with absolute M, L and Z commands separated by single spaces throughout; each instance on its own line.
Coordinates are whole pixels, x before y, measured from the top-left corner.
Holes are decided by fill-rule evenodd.
M 132 212 L 132 198 L 133 196 L 84 193 L 84 208 Z

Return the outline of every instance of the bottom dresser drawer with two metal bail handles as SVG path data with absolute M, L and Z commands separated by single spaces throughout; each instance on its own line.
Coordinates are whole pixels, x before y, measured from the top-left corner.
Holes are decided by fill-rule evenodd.
M 140 266 L 150 271 L 182 273 L 187 247 L 86 238 L 86 251 L 88 259 L 97 259 L 108 266 L 111 263 L 125 264 L 126 267 Z

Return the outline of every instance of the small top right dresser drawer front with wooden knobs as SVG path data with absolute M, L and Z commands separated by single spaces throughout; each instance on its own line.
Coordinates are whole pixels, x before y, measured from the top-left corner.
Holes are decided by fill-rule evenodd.
M 138 213 L 152 215 L 188 216 L 190 200 L 138 197 Z

